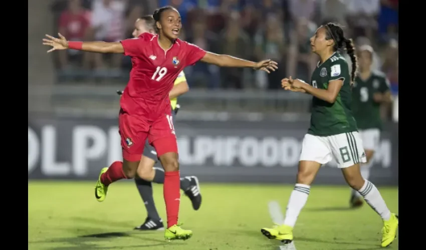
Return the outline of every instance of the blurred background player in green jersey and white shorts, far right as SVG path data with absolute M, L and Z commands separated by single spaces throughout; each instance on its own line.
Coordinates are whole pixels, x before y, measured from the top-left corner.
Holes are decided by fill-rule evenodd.
M 363 45 L 357 49 L 357 52 L 359 72 L 352 87 L 352 112 L 367 158 L 367 162 L 361 164 L 361 174 L 364 179 L 368 179 L 371 159 L 380 143 L 382 128 L 380 106 L 384 102 L 391 102 L 392 98 L 386 76 L 371 70 L 373 48 Z M 359 192 L 352 189 L 349 203 L 351 207 L 359 207 L 363 204 Z

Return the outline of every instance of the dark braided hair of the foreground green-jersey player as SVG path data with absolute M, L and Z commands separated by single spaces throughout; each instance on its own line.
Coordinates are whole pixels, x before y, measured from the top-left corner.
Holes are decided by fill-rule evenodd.
M 334 40 L 333 51 L 342 51 L 346 50 L 346 53 L 349 55 L 352 62 L 352 71 L 351 71 L 351 85 L 353 84 L 358 70 L 357 57 L 355 55 L 355 46 L 352 39 L 348 39 L 343 34 L 343 29 L 340 25 L 333 22 L 329 22 L 324 25 L 326 29 L 326 39 Z

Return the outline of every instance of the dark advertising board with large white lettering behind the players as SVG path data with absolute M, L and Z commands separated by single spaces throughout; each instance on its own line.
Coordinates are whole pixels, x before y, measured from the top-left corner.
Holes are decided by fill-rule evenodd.
M 307 122 L 176 121 L 182 174 L 209 182 L 294 183 Z M 28 118 L 28 178 L 94 180 L 121 159 L 116 118 Z M 398 125 L 384 126 L 370 179 L 398 184 Z M 343 184 L 333 163 L 316 183 Z

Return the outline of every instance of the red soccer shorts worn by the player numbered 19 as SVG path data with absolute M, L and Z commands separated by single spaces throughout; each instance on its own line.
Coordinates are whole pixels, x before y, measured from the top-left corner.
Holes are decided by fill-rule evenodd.
M 120 112 L 118 129 L 123 158 L 128 161 L 140 160 L 147 137 L 158 157 L 167 152 L 177 153 L 177 140 L 170 114 L 163 114 L 154 121 L 148 121 L 140 116 Z

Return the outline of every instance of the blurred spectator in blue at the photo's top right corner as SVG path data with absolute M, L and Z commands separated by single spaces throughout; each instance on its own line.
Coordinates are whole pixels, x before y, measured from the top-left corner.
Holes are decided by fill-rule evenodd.
M 398 0 L 381 0 L 378 25 L 382 39 L 397 38 Z

